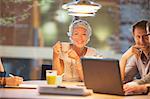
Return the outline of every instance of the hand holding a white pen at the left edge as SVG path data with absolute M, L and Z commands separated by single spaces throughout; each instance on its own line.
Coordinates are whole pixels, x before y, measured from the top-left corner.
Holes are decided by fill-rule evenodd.
M 5 83 L 7 86 L 18 86 L 19 84 L 23 83 L 23 78 L 22 77 L 6 77 L 5 78 Z

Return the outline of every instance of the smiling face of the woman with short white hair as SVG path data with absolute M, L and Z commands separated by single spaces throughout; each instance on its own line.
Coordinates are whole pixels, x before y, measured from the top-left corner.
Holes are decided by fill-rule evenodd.
M 89 39 L 87 30 L 83 27 L 75 27 L 71 36 L 73 44 L 79 48 L 84 47 Z

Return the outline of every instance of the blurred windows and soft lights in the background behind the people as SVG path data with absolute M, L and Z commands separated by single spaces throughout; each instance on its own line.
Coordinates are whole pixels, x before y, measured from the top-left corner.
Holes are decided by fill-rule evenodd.
M 0 0 L 0 57 L 7 73 L 40 79 L 41 64 L 52 64 L 52 46 L 69 41 L 73 17 L 62 5 L 73 0 Z M 88 46 L 120 59 L 134 43 L 133 23 L 150 20 L 150 0 L 91 0 L 102 5 L 94 17 Z

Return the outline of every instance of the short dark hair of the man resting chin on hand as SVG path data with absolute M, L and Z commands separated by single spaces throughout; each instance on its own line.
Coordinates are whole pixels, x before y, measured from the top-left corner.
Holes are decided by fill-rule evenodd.
M 148 21 L 147 20 L 141 20 L 139 22 L 136 22 L 133 26 L 132 26 L 132 32 L 134 34 L 135 28 L 141 28 L 146 30 L 146 26 L 147 26 Z

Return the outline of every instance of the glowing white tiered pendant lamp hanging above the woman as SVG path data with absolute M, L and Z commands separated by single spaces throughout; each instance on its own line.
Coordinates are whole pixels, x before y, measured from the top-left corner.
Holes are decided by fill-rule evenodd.
M 68 10 L 68 14 L 72 16 L 95 16 L 101 5 L 90 0 L 75 0 L 64 4 L 62 8 Z

